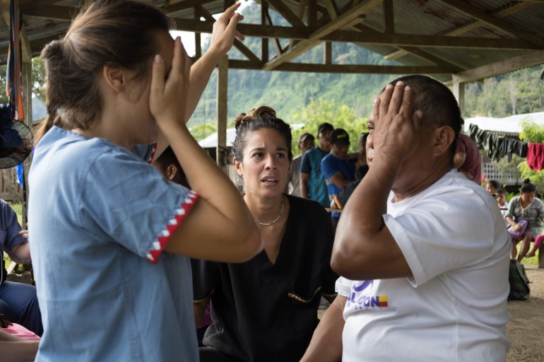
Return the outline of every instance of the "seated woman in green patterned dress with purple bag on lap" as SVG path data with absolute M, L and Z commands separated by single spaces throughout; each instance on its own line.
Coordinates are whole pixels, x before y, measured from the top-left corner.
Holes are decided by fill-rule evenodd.
M 527 220 L 527 226 L 524 234 L 521 235 L 521 238 L 514 239 L 514 237 L 512 237 L 510 258 L 516 259 L 517 256 L 517 260 L 521 262 L 531 247 L 531 241 L 533 241 L 536 236 L 542 234 L 544 222 L 544 203 L 539 198 L 536 198 L 536 186 L 531 183 L 529 179 L 526 179 L 521 186 L 519 196 L 510 200 L 505 219 L 509 226 L 516 231 L 519 231 L 522 228 L 519 219 Z M 521 248 L 519 249 L 518 254 L 517 245 L 520 241 Z

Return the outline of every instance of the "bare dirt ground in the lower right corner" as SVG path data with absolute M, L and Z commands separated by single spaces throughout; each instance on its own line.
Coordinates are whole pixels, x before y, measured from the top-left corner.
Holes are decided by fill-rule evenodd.
M 544 269 L 525 265 L 531 298 L 509 301 L 507 336 L 512 341 L 507 362 L 544 361 Z

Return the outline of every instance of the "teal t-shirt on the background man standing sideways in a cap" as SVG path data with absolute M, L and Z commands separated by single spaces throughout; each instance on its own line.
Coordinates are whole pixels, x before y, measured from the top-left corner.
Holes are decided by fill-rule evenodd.
M 321 151 L 319 147 L 314 147 L 302 156 L 300 163 L 300 172 L 309 174 L 308 178 L 308 198 L 316 200 L 324 207 L 331 205 L 327 185 L 323 174 L 321 174 L 321 159 L 327 155 L 327 152 Z

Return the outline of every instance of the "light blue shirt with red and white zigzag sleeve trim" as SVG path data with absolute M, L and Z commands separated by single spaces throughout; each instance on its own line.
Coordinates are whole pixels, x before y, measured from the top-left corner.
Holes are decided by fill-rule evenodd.
M 198 195 L 148 164 L 151 152 L 57 127 L 38 143 L 35 361 L 198 361 L 189 258 L 162 251 Z

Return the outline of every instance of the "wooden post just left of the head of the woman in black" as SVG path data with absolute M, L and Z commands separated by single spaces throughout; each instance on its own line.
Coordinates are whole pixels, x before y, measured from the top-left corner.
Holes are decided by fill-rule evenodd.
M 218 64 L 217 77 L 217 148 L 215 159 L 220 169 L 228 176 L 227 162 L 227 99 L 228 99 L 228 56 Z

